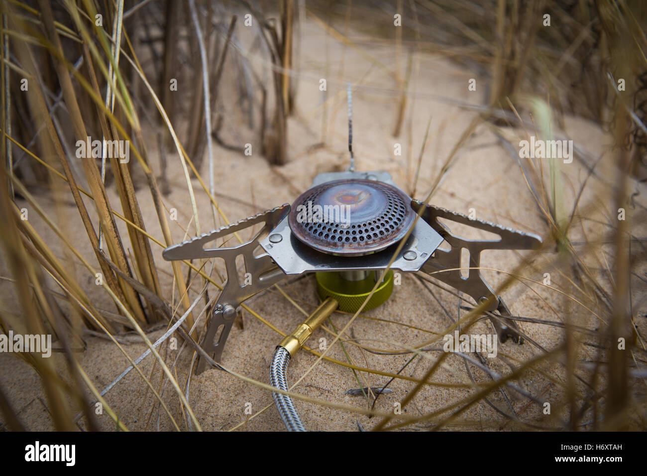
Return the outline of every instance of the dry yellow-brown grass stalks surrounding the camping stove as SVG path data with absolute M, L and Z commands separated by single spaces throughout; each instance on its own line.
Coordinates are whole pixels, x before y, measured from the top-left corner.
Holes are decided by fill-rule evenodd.
M 66 367 L 56 368 L 52 360 L 38 354 L 19 354 L 38 372 L 56 429 L 97 429 L 93 413 L 96 402 L 104 405 L 116 428 L 127 429 L 110 407 L 111 386 L 98 389 L 98 383 L 80 364 L 77 352 L 85 347 L 88 334 L 105 336 L 123 354 L 131 366 L 127 371 L 138 373 L 147 392 L 157 400 L 154 407 L 168 416 L 170 427 L 201 429 L 201 415 L 190 405 L 192 368 L 199 355 L 210 361 L 201 354 L 197 342 L 206 330 L 205 316 L 225 279 L 213 262 L 174 262 L 172 273 L 165 275 L 156 260 L 160 260 L 163 247 L 173 244 L 177 229 L 188 237 L 229 221 L 216 200 L 214 180 L 218 171 L 212 137 L 237 151 L 245 149 L 241 144 L 250 142 L 255 148 L 258 144 L 267 161 L 280 166 L 298 159 L 288 149 L 288 117 L 310 119 L 321 113 L 322 142 L 313 150 L 337 152 L 327 126 L 343 111 L 345 96 L 322 93 L 322 104 L 309 111 L 295 104 L 296 87 L 305 77 L 299 57 L 305 17 L 344 45 L 344 51 L 358 52 L 371 65 L 362 80 L 353 84 L 353 90 L 375 91 L 371 85 L 375 75 L 391 85 L 382 91 L 392 98 L 393 136 L 406 133 L 408 150 L 419 144 L 415 163 L 410 152 L 408 163 L 403 164 L 412 195 L 424 190 L 425 201 L 433 202 L 477 131 L 491 131 L 510 151 L 523 173 L 525 192 L 536 205 L 544 245 L 523 255 L 516 269 L 482 271 L 499 271 L 505 277 L 498 293 L 505 294 L 513 284 L 527 286 L 554 317 L 513 319 L 559 329 L 562 338 L 545 348 L 532 335 L 524 334 L 528 348 L 514 355 L 499 351 L 498 361 L 492 366 L 477 354 L 456 357 L 438 353 L 444 334 L 456 328 L 466 332 L 480 326 L 487 316 L 483 315 L 483 306 L 475 307 L 433 276 L 420 275 L 421 283 L 439 303 L 435 292 L 457 299 L 457 313 L 441 304 L 451 321 L 446 328 L 417 329 L 429 336 L 422 341 L 385 336 L 379 342 L 368 342 L 353 335 L 356 321 L 375 320 L 363 315 L 362 310 L 345 319 L 343 325 L 330 321 L 323 330 L 333 338 L 332 344 L 323 353 L 309 349 L 318 358 L 295 380 L 292 389 L 325 360 L 334 364 L 336 372 L 352 370 L 360 388 L 371 388 L 371 376 L 389 378 L 389 384 L 394 380 L 406 383 L 409 391 L 400 402 L 403 408 L 430 387 L 463 389 L 463 398 L 422 414 L 393 414 L 376 409 L 380 396 L 372 392 L 363 394 L 366 405 L 346 405 L 294 390 L 290 394 L 331 409 L 377 416 L 372 420 L 375 430 L 472 429 L 484 425 L 499 429 L 622 430 L 646 426 L 647 348 L 643 333 L 647 217 L 642 198 L 647 177 L 647 128 L 642 121 L 647 117 L 647 7 L 643 3 L 602 0 L 571 6 L 553 0 L 414 0 L 392 5 L 381 1 L 322 1 L 309 3 L 304 10 L 304 3 L 285 0 L 277 12 L 271 6 L 261 8 L 247 1 L 225 5 L 190 1 L 184 10 L 180 6 L 184 3 L 168 2 L 165 6 L 149 2 L 140 6 L 134 2 L 124 5 L 121 0 L 64 0 L 54 4 L 47 0 L 10 0 L 0 5 L 1 128 L 5 138 L 0 167 L 0 256 L 4 262 L 0 269 L 6 273 L 0 277 L 0 330 L 52 334 L 58 351 L 65 355 Z M 240 29 L 247 12 L 251 12 L 254 26 L 251 40 L 245 43 L 248 38 L 243 36 L 248 33 Z M 551 14 L 550 27 L 542 24 L 545 12 Z M 396 13 L 405 20 L 394 32 Z M 98 14 L 101 26 L 95 21 Z M 353 36 L 349 25 L 356 32 Z M 385 63 L 371 54 L 369 43 L 393 43 L 397 55 Z M 405 54 L 406 61 L 400 57 Z M 417 74 L 421 54 L 461 63 L 487 83 L 483 106 L 454 101 L 458 109 L 477 114 L 450 151 L 439 157 L 437 171 L 428 183 L 419 180 L 423 155 L 432 145 L 437 147 L 435 142 L 441 141 L 446 124 L 434 130 L 433 115 L 427 115 L 424 137 L 413 137 L 411 120 L 407 122 L 408 114 L 413 117 L 417 95 L 442 96 L 442 92 L 411 90 L 411 77 Z M 226 68 L 235 71 L 223 71 Z M 235 104 L 221 93 L 225 73 L 237 78 Z M 171 94 L 169 80 L 175 76 L 179 80 L 190 78 L 191 91 Z M 331 78 L 329 84 L 344 84 L 333 79 L 333 72 L 327 76 Z M 154 77 L 160 80 L 149 80 Z M 21 93 L 23 78 L 27 80 L 27 94 Z M 624 80 L 623 91 L 617 90 L 619 79 Z M 556 158 L 518 158 L 518 141 L 531 135 L 562 139 L 567 130 L 564 126 L 575 116 L 598 124 L 609 143 L 602 151 L 575 150 L 576 163 L 587 170 L 585 177 L 570 176 Z M 72 144 L 89 136 L 128 141 L 134 160 L 121 163 L 118 157 L 105 154 L 96 160 L 76 159 Z M 179 170 L 186 182 L 191 210 L 184 227 L 181 221 L 170 218 L 173 207 L 166 198 L 168 170 L 158 170 L 151 160 L 155 152 L 147 147 L 155 142 L 150 137 L 157 138 L 159 155 L 168 155 L 166 161 L 175 164 L 173 169 Z M 209 171 L 206 181 L 200 174 L 205 150 Z M 283 169 L 274 170 L 285 179 Z M 200 186 L 196 190 L 192 176 Z M 591 177 L 604 183 L 593 198 Z M 118 203 L 111 203 L 109 187 L 116 190 Z M 156 220 L 144 220 L 142 189 L 150 194 Z M 241 196 L 247 199 L 245 194 Z M 206 223 L 201 220 L 204 211 L 200 216 L 196 197 L 208 198 L 211 205 Z M 252 196 L 251 201 L 256 200 L 259 197 Z M 45 211 L 45 201 L 60 204 L 56 216 Z M 70 202 L 83 226 L 82 242 L 75 242 L 67 232 L 72 220 L 62 212 L 62 205 Z M 269 208 L 265 207 L 265 198 L 261 203 L 261 209 Z M 56 242 L 43 238 L 31 218 L 23 219 L 23 208 L 30 217 L 39 216 L 39 222 L 49 229 L 47 236 L 56 236 Z M 602 212 L 606 221 L 591 227 L 592 217 L 600 216 L 602 209 L 606 210 Z M 619 209 L 624 210 L 624 220 L 618 219 L 615 210 Z M 124 224 L 126 232 L 120 232 Z M 223 245 L 247 238 L 237 234 Z M 546 270 L 556 277 L 552 284 L 536 279 Z M 95 302 L 94 293 L 89 293 L 84 284 L 87 278 L 101 286 L 113 304 L 111 310 Z M 172 289 L 162 284 L 168 281 Z M 269 292 L 279 293 L 304 314 L 315 304 L 294 297 L 283 287 Z M 16 297 L 19 308 L 2 302 L 11 296 Z M 554 302 L 557 308 L 551 304 Z M 243 308 L 277 334 L 285 335 L 269 317 L 250 306 Z M 164 339 L 151 342 L 150 332 L 160 323 L 168 330 L 164 339 L 177 335 L 182 342 L 175 356 L 162 350 Z M 410 327 L 400 321 L 389 325 Z M 620 337 L 624 346 L 618 345 Z M 147 352 L 153 354 L 155 365 L 148 375 L 138 365 L 141 359 L 133 359 L 122 345 L 129 338 L 143 342 Z M 346 361 L 329 355 L 337 345 Z M 185 357 L 180 359 L 183 352 Z M 376 353 L 393 358 L 407 355 L 408 360 L 397 373 L 360 363 Z M 424 366 L 421 378 L 402 373 L 414 361 Z M 226 362 L 210 363 L 270 395 L 271 387 L 264 381 L 228 368 Z M 465 370 L 457 363 L 464 364 Z M 179 365 L 186 368 L 179 372 Z M 494 368 L 507 370 L 502 373 Z M 454 381 L 435 380 L 441 370 L 448 370 Z M 524 385 L 529 378 L 538 378 L 545 386 Z M 0 372 L 2 424 L 23 429 L 25 425 L 6 398 L 2 381 Z M 164 392 L 167 385 L 174 392 L 172 397 Z M 520 398 L 515 403 L 523 404 L 513 404 L 510 394 Z M 542 414 L 547 394 L 551 395 L 553 411 Z M 494 408 L 501 420 L 484 424 L 464 417 L 474 405 L 483 403 Z M 531 405 L 538 410 L 534 416 L 524 416 Z M 231 422 L 229 429 L 247 424 L 269 407 L 239 425 Z M 149 421 L 152 415 L 153 408 Z

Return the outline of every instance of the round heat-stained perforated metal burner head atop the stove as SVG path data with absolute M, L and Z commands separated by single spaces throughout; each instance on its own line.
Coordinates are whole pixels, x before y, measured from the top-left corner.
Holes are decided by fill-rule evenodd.
M 288 223 L 301 242 L 323 253 L 368 255 L 399 242 L 415 218 L 411 199 L 388 183 L 344 179 L 306 190 Z

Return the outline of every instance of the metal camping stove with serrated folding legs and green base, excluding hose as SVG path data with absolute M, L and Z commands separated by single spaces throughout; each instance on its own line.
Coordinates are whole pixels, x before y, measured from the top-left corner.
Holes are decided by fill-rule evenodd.
M 491 232 L 499 240 L 467 240 L 438 219 Z M 248 242 L 215 247 L 215 241 L 265 223 Z M 441 249 L 443 240 L 450 249 Z M 236 308 L 259 291 L 289 275 L 316 273 L 321 299 L 334 297 L 340 310 L 356 312 L 389 269 L 366 303 L 369 310 L 385 302 L 393 290 L 393 269 L 422 271 L 470 295 L 490 315 L 501 342 L 521 343 L 518 327 L 503 300 L 479 272 L 485 249 L 533 249 L 541 238 L 488 221 L 472 220 L 411 199 L 387 172 L 332 172 L 315 177 L 313 186 L 291 205 L 285 204 L 226 225 L 164 250 L 166 260 L 223 258 L 227 281 L 214 308 L 202 347 L 220 361 L 236 317 Z M 254 252 L 261 247 L 261 253 Z M 470 269 L 461 270 L 461 252 Z M 237 256 L 243 256 L 252 279 L 240 282 Z M 390 264 L 390 266 L 389 266 Z M 461 274 L 463 271 L 463 274 Z M 466 274 L 465 274 L 466 273 Z M 198 372 L 206 363 L 201 359 Z

